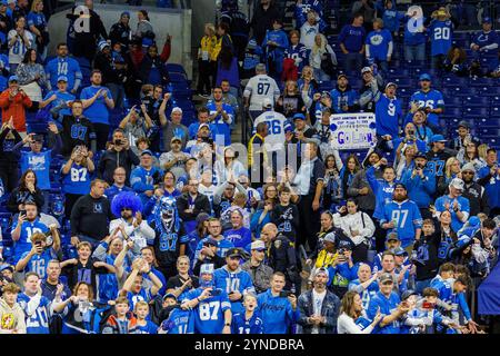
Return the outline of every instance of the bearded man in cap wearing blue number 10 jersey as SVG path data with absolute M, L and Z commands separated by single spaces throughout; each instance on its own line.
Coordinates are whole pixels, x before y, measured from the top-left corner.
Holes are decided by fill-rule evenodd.
M 240 268 L 242 251 L 231 248 L 226 255 L 226 266 L 216 269 L 213 280 L 216 288 L 228 294 L 232 314 L 244 313 L 243 297 L 247 293 L 256 293 L 249 273 Z

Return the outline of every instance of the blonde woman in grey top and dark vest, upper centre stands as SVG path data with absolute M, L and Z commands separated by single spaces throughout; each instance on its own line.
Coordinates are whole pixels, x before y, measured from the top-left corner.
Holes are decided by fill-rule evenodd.
M 334 76 L 334 67 L 337 67 L 337 56 L 333 49 L 328 44 L 324 34 L 318 33 L 314 37 L 311 53 L 309 56 L 314 77 L 319 81 L 328 81 Z

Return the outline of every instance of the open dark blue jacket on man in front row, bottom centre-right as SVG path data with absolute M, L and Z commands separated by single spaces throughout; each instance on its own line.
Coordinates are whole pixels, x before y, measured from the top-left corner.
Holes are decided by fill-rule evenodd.
M 299 309 L 299 319 L 297 324 L 302 326 L 302 334 L 311 334 L 312 325 L 307 322 L 308 317 L 314 314 L 312 305 L 312 290 L 302 293 L 299 297 L 297 308 Z M 339 316 L 340 299 L 330 290 L 327 290 L 323 304 L 321 305 L 321 316 L 327 318 L 326 324 L 319 327 L 319 334 L 337 334 L 337 318 Z

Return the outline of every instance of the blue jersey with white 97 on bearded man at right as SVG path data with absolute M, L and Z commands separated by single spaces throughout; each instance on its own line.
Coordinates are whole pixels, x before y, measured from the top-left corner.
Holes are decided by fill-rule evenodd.
M 390 231 L 397 231 L 401 246 L 413 244 L 416 229 L 422 227 L 422 216 L 419 207 L 411 200 L 403 202 L 392 201 L 383 207 L 383 217 L 380 219 L 380 225 L 394 221 L 396 227 Z

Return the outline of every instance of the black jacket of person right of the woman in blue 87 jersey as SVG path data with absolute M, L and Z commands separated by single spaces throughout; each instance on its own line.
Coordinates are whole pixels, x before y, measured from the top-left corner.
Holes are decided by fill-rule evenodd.
M 131 150 L 116 151 L 114 149 L 107 150 L 99 160 L 98 176 L 104 179 L 108 184 L 113 182 L 113 172 L 117 167 L 123 167 L 127 175 L 126 184 L 129 185 L 130 172 L 132 165 L 139 165 L 139 157 Z

